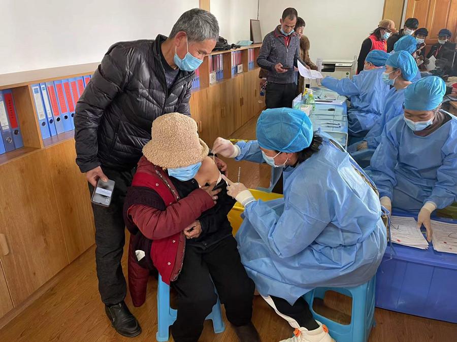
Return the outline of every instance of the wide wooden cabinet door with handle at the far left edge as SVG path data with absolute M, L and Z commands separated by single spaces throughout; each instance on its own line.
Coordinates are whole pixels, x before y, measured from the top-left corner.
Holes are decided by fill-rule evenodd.
M 0 254 L 13 304 L 22 302 L 69 263 L 44 149 L 0 167 Z

